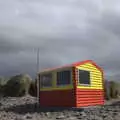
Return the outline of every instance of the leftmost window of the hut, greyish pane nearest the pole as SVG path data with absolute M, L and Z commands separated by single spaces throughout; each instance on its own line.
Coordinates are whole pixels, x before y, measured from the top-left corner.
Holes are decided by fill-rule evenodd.
M 52 74 L 40 75 L 41 87 L 52 87 Z

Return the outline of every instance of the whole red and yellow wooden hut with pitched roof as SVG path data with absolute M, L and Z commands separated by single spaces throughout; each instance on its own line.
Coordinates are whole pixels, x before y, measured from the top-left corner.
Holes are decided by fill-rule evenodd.
M 40 106 L 85 107 L 104 104 L 103 70 L 86 60 L 39 73 Z

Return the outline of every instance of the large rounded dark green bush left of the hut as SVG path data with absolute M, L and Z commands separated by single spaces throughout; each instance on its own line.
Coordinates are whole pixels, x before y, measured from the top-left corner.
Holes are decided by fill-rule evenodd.
M 23 96 L 25 94 L 28 94 L 30 84 L 30 76 L 20 74 L 11 77 L 2 88 L 2 91 L 4 96 Z

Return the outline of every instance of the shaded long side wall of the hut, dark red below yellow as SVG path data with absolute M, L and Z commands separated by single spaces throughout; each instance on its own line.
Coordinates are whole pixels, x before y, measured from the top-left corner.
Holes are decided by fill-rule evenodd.
M 64 68 L 64 69 L 57 69 L 55 71 L 49 71 L 53 74 L 53 87 L 52 88 L 43 88 L 40 90 L 40 105 L 43 107 L 74 107 L 76 105 L 75 101 L 75 89 L 74 89 L 74 77 L 75 75 L 72 74 L 72 85 L 68 86 L 56 86 L 56 72 L 62 71 L 66 69 L 73 68 Z M 47 73 L 49 73 L 47 72 Z M 43 73 L 44 74 L 44 73 Z

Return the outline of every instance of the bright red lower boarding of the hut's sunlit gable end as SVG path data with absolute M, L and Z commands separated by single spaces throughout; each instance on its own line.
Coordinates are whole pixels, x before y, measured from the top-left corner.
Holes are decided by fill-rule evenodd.
M 96 89 L 80 89 L 76 90 L 76 106 L 91 106 L 91 105 L 102 105 L 104 104 L 103 90 Z

